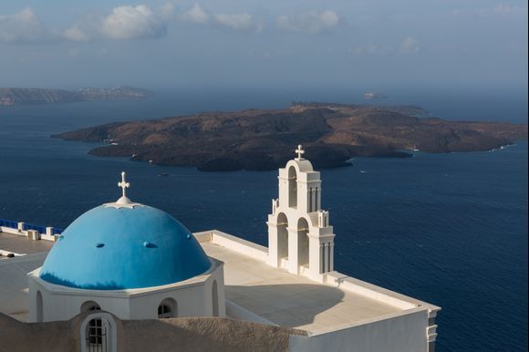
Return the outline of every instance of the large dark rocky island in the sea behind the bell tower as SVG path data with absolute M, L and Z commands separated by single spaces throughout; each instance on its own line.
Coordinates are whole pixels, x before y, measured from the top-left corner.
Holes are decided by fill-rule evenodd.
M 291 158 L 299 143 L 316 168 L 332 168 L 355 156 L 493 150 L 527 138 L 527 125 L 424 116 L 425 110 L 410 106 L 294 102 L 288 109 L 116 122 L 52 137 L 106 143 L 90 150 L 92 155 L 201 171 L 273 170 Z

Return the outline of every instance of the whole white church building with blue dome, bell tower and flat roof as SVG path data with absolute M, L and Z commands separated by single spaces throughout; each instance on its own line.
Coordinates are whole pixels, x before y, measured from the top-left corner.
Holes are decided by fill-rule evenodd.
M 216 230 L 190 233 L 131 202 L 123 173 L 122 197 L 71 223 L 28 274 L 29 320 L 98 310 L 121 320 L 228 316 L 306 330 L 290 336 L 290 351 L 433 351 L 440 307 L 334 271 L 320 174 L 301 146 L 296 153 L 279 170 L 268 248 Z M 84 337 L 115 325 L 105 312 L 88 315 L 81 343 L 99 343 Z M 100 343 L 115 351 L 116 341 L 114 334 Z

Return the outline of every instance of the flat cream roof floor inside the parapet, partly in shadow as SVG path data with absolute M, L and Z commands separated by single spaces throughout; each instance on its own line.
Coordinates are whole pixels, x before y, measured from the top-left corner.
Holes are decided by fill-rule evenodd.
M 219 244 L 201 244 L 206 254 L 225 263 L 226 299 L 280 326 L 315 331 L 405 310 L 289 274 Z

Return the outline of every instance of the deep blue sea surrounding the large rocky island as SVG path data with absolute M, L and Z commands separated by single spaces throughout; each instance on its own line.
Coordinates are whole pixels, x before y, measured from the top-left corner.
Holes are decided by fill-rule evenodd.
M 384 103 L 420 105 L 446 119 L 527 120 L 523 95 L 393 96 L 399 98 Z M 0 107 L 0 218 L 64 228 L 119 198 L 116 183 L 125 170 L 132 200 L 170 212 L 192 231 L 215 228 L 267 244 L 276 171 L 204 173 L 102 159 L 87 155 L 93 144 L 49 135 L 116 120 L 282 108 L 291 100 L 365 102 L 355 97 L 173 92 L 148 101 Z M 441 305 L 438 351 L 527 350 L 526 142 L 353 162 L 321 171 L 322 205 L 337 234 L 336 269 Z

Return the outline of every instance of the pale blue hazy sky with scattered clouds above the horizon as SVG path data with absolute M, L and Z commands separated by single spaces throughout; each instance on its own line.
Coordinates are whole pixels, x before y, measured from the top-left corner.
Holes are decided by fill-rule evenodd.
M 0 3 L 0 87 L 527 87 L 527 2 Z

